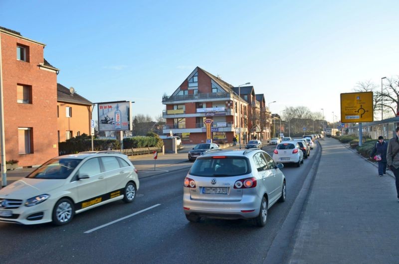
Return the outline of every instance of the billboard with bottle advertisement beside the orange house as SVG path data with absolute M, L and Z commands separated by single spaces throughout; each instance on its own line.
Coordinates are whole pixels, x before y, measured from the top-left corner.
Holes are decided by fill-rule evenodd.
M 98 131 L 132 130 L 130 101 L 98 103 Z

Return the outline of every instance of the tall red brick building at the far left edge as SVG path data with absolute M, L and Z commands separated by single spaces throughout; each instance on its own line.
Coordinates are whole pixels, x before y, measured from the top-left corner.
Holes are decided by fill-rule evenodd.
M 45 44 L 0 27 L 5 158 L 38 165 L 58 155 L 57 74 Z

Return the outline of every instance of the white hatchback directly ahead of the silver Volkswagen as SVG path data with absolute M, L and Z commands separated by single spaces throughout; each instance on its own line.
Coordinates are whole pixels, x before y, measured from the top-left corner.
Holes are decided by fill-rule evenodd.
M 273 160 L 278 163 L 303 163 L 303 152 L 297 141 L 283 141 L 273 151 Z

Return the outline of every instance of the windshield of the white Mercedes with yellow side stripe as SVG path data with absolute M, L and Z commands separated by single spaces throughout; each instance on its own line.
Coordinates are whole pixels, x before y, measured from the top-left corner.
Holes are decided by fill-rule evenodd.
M 82 161 L 77 158 L 53 158 L 32 171 L 26 178 L 66 179 Z

